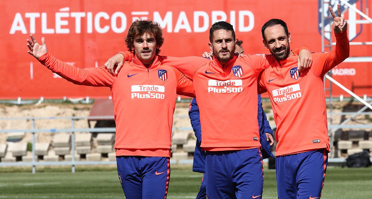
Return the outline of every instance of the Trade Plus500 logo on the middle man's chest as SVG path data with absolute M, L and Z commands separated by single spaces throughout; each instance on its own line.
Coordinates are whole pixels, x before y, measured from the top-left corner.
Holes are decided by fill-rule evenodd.
M 243 92 L 243 81 L 241 79 L 232 79 L 227 81 L 208 80 L 208 92 L 214 93 L 233 93 Z

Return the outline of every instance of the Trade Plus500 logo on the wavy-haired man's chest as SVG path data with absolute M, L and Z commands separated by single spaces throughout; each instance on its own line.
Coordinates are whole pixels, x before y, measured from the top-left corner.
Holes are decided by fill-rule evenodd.
M 165 87 L 160 85 L 132 85 L 132 99 L 164 99 Z

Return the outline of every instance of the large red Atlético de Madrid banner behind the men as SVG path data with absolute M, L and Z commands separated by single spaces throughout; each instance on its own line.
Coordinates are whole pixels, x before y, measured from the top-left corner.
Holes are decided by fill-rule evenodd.
M 349 2 L 365 12 L 365 0 Z M 320 7 L 318 0 L 1 1 L 0 99 L 110 95 L 109 88 L 73 85 L 42 66 L 26 52 L 30 33 L 38 40 L 44 36 L 50 53 L 80 68 L 103 65 L 119 50 L 126 50 L 126 32 L 134 20 L 141 18 L 163 27 L 161 55 L 200 56 L 209 50 L 209 27 L 220 20 L 234 26 L 237 38 L 244 42 L 245 53 L 269 53 L 262 45 L 261 26 L 271 18 L 287 22 L 292 48 L 308 46 L 317 52 L 321 51 Z M 372 10 L 372 5 L 368 4 L 368 8 Z M 359 23 L 360 15 L 344 5 L 342 12 L 349 22 L 350 40 L 371 42 L 371 24 Z M 332 35 L 328 33 L 325 38 L 334 41 Z M 371 46 L 351 46 L 350 56 L 372 56 L 371 51 Z M 358 95 L 372 96 L 371 70 L 371 62 L 341 63 L 333 70 L 333 78 Z M 334 86 L 333 95 L 340 94 L 346 95 Z

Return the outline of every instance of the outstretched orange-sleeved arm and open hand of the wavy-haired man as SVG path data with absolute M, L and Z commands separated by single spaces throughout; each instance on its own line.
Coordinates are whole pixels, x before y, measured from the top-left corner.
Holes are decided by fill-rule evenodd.
M 81 69 L 56 59 L 48 53 L 44 37 L 41 38 L 42 45 L 39 45 L 35 37 L 32 35 L 30 36 L 32 41 L 27 39 L 27 46 L 29 48 L 27 52 L 38 59 L 42 65 L 67 81 L 78 85 L 110 87 L 115 80 L 115 77 L 109 75 L 108 71 L 103 66 Z

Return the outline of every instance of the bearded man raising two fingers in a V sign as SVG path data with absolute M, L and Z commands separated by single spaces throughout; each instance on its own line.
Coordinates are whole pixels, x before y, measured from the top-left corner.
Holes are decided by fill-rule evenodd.
M 324 184 L 330 144 L 324 96 L 324 75 L 349 56 L 347 22 L 333 16 L 336 49 L 312 53 L 310 69 L 297 70 L 297 55 L 289 48 L 286 23 L 271 19 L 262 27 L 263 44 L 275 57 L 259 77 L 259 93 L 268 91 L 276 123 L 278 198 L 318 199 Z

